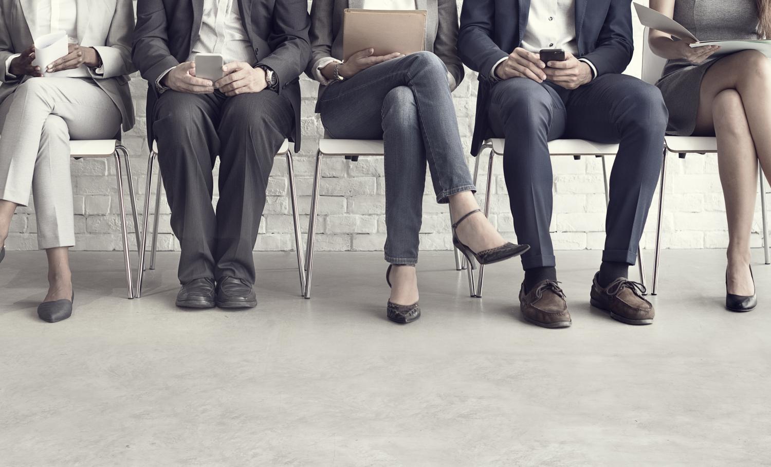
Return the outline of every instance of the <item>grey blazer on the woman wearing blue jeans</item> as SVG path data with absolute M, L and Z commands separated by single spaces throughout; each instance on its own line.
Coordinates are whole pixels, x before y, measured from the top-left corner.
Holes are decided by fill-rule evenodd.
M 313 78 L 313 70 L 321 59 L 342 59 L 342 16 L 345 8 L 362 8 L 363 0 L 313 0 L 311 5 L 311 63 L 305 73 Z M 416 0 L 419 10 L 428 11 L 426 50 L 436 53 L 455 80 L 463 80 L 463 63 L 458 58 L 458 7 L 456 0 Z M 455 86 L 451 86 L 454 87 Z M 326 86 L 319 86 L 321 97 Z

